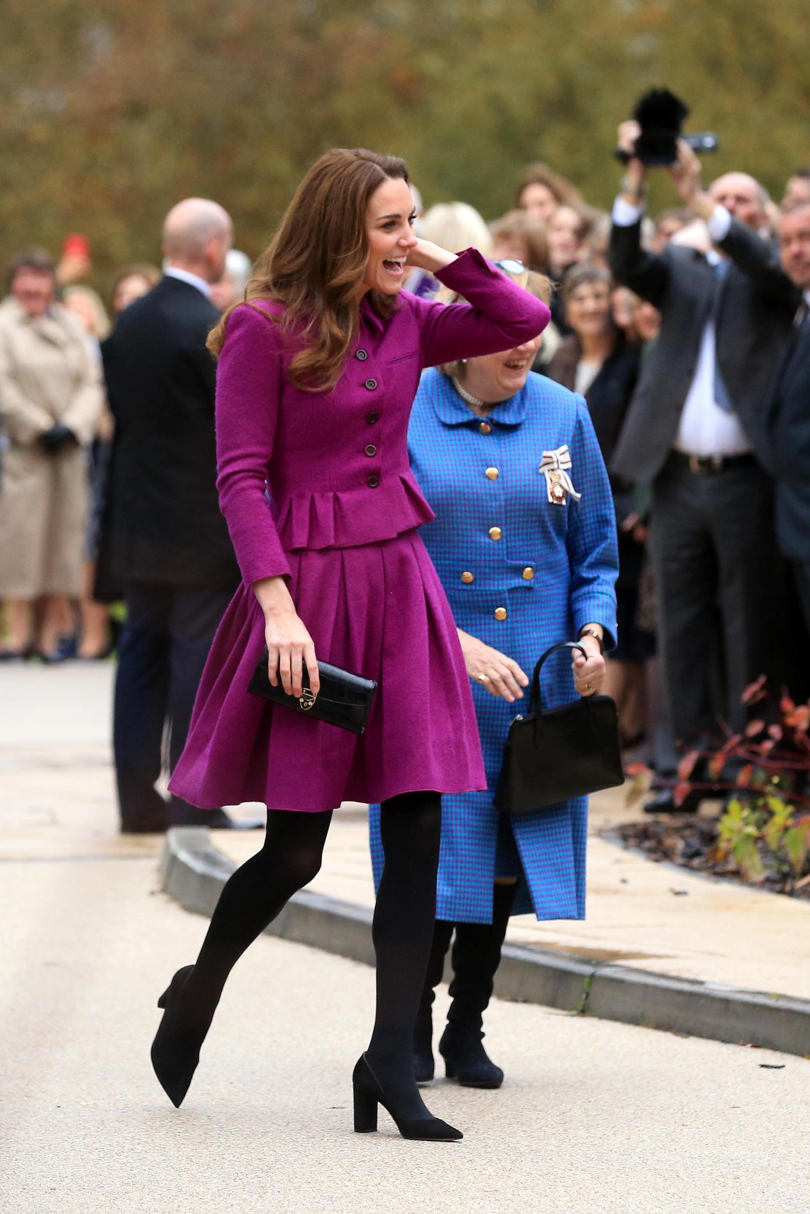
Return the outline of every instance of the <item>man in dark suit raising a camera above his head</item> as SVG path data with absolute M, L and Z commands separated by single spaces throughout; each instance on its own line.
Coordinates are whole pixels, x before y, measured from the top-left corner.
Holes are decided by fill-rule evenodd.
M 629 149 L 634 125 L 619 129 Z M 610 261 L 621 283 L 661 310 L 662 325 L 612 470 L 652 484 L 665 699 L 675 738 L 691 748 L 716 733 L 718 631 L 720 711 L 732 727 L 744 724 L 746 685 L 772 673 L 778 573 L 767 399 L 799 291 L 759 234 L 766 194 L 752 177 L 726 174 L 702 191 L 699 161 L 682 141 L 670 171 L 692 214 L 707 222 L 713 248 L 706 255 L 641 248 L 646 169 L 630 159 Z M 698 802 L 692 794 L 682 809 Z M 647 806 L 673 807 L 668 789 Z

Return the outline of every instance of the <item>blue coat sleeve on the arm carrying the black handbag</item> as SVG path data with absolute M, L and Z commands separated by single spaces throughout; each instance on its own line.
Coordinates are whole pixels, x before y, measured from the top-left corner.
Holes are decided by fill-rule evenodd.
M 577 425 L 571 443 L 573 469 L 584 470 L 576 488 L 582 500 L 571 503 L 568 560 L 571 562 L 571 611 L 574 631 L 584 624 L 601 624 L 605 648 L 616 643 L 616 578 L 618 539 L 616 510 L 602 453 L 599 449 L 588 405 L 577 397 Z

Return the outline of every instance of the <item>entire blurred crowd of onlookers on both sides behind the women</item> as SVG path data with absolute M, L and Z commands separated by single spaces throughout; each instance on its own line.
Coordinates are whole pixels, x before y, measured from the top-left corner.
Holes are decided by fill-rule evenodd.
M 628 151 L 631 125 L 619 129 Z M 421 237 L 452 251 L 475 245 L 553 283 L 534 370 L 585 397 L 611 473 L 619 641 L 606 690 L 628 759 L 661 776 L 656 809 L 673 807 L 679 751 L 704 745 L 720 721 L 744 726 L 748 682 L 794 680 L 806 694 L 795 649 L 808 648 L 810 619 L 799 484 L 810 472 L 795 455 L 810 398 L 789 432 L 780 421 L 810 289 L 810 169 L 791 175 L 780 204 L 744 172 L 703 189 L 685 147 L 670 174 L 676 205 L 655 217 L 634 159 L 612 211 L 544 164 L 526 169 L 514 208 L 489 222 L 464 202 L 423 211 L 414 189 Z M 250 260 L 231 250 L 211 287 L 216 308 L 242 297 L 249 273 Z M 0 305 L 4 660 L 97 659 L 115 647 L 115 609 L 94 597 L 114 429 L 102 346 L 160 274 L 131 265 L 100 293 L 84 237 L 68 237 L 60 260 L 34 249 L 10 268 Z M 438 291 L 420 270 L 407 287 Z

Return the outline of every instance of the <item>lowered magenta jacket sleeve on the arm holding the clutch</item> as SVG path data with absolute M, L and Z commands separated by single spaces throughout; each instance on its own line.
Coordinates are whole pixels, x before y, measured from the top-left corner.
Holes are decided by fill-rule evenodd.
M 276 327 L 238 307 L 216 370 L 216 487 L 247 585 L 290 572 L 265 495 L 282 375 Z

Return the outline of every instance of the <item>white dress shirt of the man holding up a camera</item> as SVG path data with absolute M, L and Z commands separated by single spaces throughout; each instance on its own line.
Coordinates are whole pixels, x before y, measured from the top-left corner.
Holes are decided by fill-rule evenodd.
M 617 198 L 613 204 L 613 223 L 617 227 L 630 227 L 644 215 L 644 206 L 633 206 L 624 198 Z M 731 226 L 731 214 L 725 206 L 715 206 L 708 221 L 709 236 L 716 244 L 723 240 Z M 714 250 L 707 254 L 709 265 L 720 261 Z M 680 415 L 675 450 L 685 455 L 744 455 L 752 450 L 744 430 L 736 413 L 721 409 L 714 399 L 714 369 L 716 363 L 716 340 L 714 318 L 709 317 L 701 337 L 695 375 L 686 393 Z

